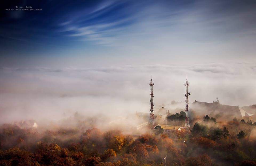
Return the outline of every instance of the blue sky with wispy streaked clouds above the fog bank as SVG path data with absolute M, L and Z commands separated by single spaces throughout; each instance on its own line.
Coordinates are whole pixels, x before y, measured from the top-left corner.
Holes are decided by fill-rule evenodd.
M 255 60 L 255 1 L 5 3 L 4 66 Z M 42 11 L 5 10 L 15 6 Z

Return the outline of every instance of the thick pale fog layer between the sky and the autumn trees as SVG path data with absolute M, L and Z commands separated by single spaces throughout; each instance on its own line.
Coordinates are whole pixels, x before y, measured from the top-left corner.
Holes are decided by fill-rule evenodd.
M 115 65 L 95 68 L 1 68 L 1 123 L 35 119 L 68 120 L 74 113 L 113 121 L 149 112 L 150 76 L 156 109 L 185 100 L 244 106 L 255 104 L 256 66 L 252 63 L 193 65 Z M 127 120 L 130 121 L 130 120 Z M 71 121 L 69 121 L 71 124 Z M 133 123 L 133 122 L 132 122 Z M 134 122 L 136 123 L 136 122 Z

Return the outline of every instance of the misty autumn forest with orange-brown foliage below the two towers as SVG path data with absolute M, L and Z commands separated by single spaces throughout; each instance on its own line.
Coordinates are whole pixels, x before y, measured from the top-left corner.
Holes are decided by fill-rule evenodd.
M 166 119 L 181 123 L 184 113 Z M 165 164 L 166 155 L 166 165 L 256 165 L 254 124 L 251 119 L 218 121 L 205 115 L 191 119 L 189 132 L 145 128 L 139 135 L 117 129 L 84 130 L 81 122 L 77 128 L 44 132 L 4 124 L 0 130 L 0 165 L 156 166 Z

